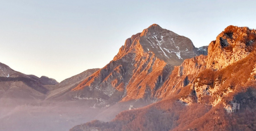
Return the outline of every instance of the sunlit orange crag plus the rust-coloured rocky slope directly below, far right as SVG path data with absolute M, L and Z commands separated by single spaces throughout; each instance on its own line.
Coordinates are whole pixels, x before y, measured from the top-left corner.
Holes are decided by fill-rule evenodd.
M 228 108 L 230 102 L 225 98 L 255 79 L 255 41 L 255 30 L 228 26 L 209 44 L 208 69 L 200 72 L 191 87 L 197 102 L 222 103 Z

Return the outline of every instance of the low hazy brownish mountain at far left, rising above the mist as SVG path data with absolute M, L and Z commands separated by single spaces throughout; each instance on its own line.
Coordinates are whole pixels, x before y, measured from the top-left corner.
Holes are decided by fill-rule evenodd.
M 0 108 L 15 107 L 45 99 L 46 84 L 57 84 L 54 79 L 22 74 L 0 63 Z

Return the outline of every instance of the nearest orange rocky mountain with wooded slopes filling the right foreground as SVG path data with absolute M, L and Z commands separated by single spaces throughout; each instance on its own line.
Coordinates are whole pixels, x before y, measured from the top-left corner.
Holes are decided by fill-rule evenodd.
M 228 26 L 200 55 L 176 66 L 156 95 L 161 101 L 109 122 L 70 131 L 255 131 L 256 31 Z

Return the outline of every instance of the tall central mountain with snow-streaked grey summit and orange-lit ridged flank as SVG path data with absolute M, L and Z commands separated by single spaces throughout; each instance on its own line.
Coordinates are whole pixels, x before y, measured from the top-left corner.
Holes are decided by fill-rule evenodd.
M 152 99 L 174 66 L 199 55 L 191 40 L 151 25 L 125 41 L 114 59 L 71 92 L 74 98 L 118 102 Z

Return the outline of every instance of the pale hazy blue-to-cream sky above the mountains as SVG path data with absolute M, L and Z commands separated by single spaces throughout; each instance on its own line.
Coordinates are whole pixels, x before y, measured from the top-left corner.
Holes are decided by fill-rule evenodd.
M 256 28 L 256 0 L 0 0 L 0 62 L 62 81 L 102 68 L 156 23 L 208 45 L 228 25 Z

